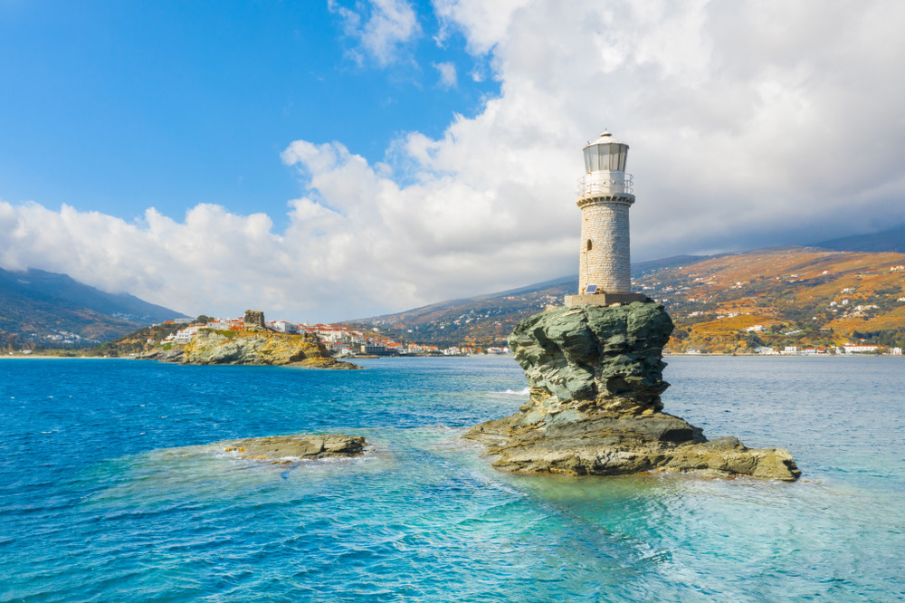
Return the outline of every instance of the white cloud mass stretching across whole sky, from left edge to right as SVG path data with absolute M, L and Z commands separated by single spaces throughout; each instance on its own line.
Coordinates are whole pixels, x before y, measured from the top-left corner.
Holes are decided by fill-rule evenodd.
M 390 5 L 401 6 L 344 18 L 376 32 L 367 23 Z M 282 233 L 266 215 L 219 206 L 182 221 L 150 209 L 127 223 L 0 204 L 0 264 L 179 300 L 189 312 L 229 313 L 240 301 L 296 320 L 500 291 L 576 272 L 580 149 L 604 127 L 632 146 L 635 259 L 905 221 L 905 4 L 434 7 L 490 58 L 499 97 L 440 138 L 405 133 L 376 165 L 340 142 L 292 142 L 282 158 L 306 192 Z M 390 56 L 406 35 L 363 46 Z

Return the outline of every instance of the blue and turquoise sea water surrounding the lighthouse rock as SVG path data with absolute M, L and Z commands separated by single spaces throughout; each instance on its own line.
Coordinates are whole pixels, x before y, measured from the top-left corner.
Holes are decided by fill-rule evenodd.
M 0 361 L 0 601 L 905 597 L 905 360 L 668 360 L 668 412 L 804 478 L 494 471 L 459 436 L 527 399 L 509 358 Z M 322 431 L 373 449 L 206 446 Z

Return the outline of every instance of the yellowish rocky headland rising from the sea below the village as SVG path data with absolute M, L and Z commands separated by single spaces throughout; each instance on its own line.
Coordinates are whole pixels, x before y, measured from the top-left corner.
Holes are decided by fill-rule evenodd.
M 156 348 L 140 356 L 180 364 L 291 365 L 314 369 L 358 369 L 330 358 L 320 340 L 310 333 L 284 335 L 272 331 L 219 331 L 202 329 L 185 346 Z

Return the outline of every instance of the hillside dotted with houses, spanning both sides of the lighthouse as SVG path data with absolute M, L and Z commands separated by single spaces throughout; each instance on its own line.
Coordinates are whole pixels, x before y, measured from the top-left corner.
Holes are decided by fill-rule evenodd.
M 676 351 L 831 347 L 853 339 L 905 343 L 905 254 L 813 247 L 681 256 L 633 266 L 633 288 L 662 302 L 676 322 Z M 399 340 L 504 345 L 523 318 L 575 292 L 565 277 L 507 292 L 436 303 L 356 321 Z M 763 325 L 764 330 L 746 330 Z

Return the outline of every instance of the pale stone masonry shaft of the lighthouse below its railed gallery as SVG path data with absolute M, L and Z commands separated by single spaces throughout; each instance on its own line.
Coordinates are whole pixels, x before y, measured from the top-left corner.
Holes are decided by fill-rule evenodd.
M 605 292 L 632 291 L 628 209 L 633 197 L 582 199 L 578 292 L 595 284 Z M 590 242 L 590 249 L 588 249 Z

